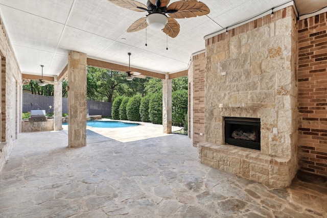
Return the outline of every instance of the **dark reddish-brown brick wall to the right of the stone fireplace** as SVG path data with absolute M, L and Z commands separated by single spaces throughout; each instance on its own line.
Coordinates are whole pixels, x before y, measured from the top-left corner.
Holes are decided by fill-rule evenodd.
M 298 22 L 298 157 L 327 176 L 327 13 Z

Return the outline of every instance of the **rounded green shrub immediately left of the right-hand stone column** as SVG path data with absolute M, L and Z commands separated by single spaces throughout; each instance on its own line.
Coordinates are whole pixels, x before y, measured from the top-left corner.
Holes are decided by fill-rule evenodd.
M 153 93 L 149 102 L 149 118 L 153 124 L 162 124 L 162 92 Z

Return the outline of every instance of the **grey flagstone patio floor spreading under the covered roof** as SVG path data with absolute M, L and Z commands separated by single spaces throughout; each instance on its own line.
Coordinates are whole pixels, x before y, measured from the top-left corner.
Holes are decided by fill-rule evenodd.
M 19 134 L 0 217 L 327 217 L 325 181 L 267 187 L 199 163 L 187 136 L 145 130 L 88 129 L 76 149 L 66 130 Z

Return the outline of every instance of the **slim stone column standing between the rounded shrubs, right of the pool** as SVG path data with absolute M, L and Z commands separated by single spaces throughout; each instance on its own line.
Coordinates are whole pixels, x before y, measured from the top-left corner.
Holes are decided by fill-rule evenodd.
M 162 125 L 164 133 L 172 133 L 172 80 L 168 72 L 162 80 Z

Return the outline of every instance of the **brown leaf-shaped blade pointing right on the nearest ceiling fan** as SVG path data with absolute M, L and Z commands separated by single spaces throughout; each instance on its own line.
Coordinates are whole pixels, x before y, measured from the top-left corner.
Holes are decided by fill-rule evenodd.
M 169 16 L 173 18 L 189 18 L 210 13 L 210 9 L 204 3 L 196 0 L 174 2 L 167 8 L 167 11 Z M 174 12 L 170 13 L 169 11 Z

